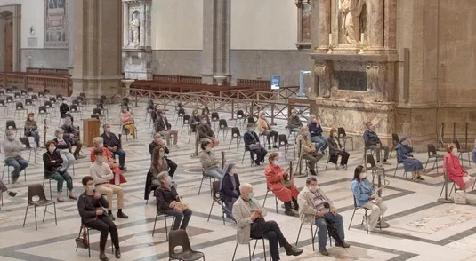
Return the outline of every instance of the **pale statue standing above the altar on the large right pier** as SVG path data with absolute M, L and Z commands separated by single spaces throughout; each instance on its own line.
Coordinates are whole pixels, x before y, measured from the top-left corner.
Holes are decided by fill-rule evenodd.
M 365 0 L 340 0 L 339 10 L 343 12 L 342 29 L 348 44 L 359 44 L 360 12 L 364 7 Z

